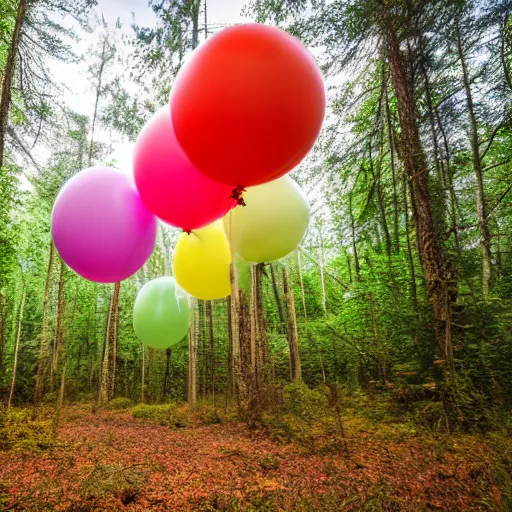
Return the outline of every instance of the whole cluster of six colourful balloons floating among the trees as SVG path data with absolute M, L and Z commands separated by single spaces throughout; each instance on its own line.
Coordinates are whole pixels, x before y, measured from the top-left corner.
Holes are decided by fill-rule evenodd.
M 224 29 L 193 52 L 169 105 L 140 132 L 134 183 L 93 167 L 63 186 L 55 246 L 79 275 L 112 283 L 149 258 L 157 218 L 181 228 L 175 277 L 144 285 L 134 305 L 137 336 L 167 348 L 189 327 L 182 290 L 226 297 L 232 262 L 247 286 L 248 262 L 280 259 L 300 243 L 309 206 L 285 175 L 312 148 L 324 114 L 321 73 L 298 39 L 261 24 Z

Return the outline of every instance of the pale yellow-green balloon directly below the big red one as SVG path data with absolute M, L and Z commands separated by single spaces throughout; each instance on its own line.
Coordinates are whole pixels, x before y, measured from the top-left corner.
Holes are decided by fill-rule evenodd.
M 234 252 L 261 263 L 281 259 L 300 244 L 309 224 L 309 204 L 292 178 L 249 187 L 243 198 L 246 206 L 237 206 L 224 217 Z

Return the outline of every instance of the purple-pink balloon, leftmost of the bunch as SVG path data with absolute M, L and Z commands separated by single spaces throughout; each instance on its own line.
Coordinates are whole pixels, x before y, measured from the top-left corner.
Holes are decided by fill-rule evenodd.
M 112 167 L 91 167 L 60 190 L 52 236 L 62 259 L 77 274 L 115 283 L 137 272 L 153 252 L 156 218 L 128 175 Z

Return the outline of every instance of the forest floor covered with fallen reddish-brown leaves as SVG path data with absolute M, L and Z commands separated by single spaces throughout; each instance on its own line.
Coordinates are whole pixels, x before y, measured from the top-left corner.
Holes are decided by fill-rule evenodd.
M 0 452 L 0 509 L 510 510 L 492 436 L 344 415 L 347 454 L 344 442 L 277 442 L 234 418 L 189 416 L 170 428 L 131 410 L 67 406 L 56 440 Z

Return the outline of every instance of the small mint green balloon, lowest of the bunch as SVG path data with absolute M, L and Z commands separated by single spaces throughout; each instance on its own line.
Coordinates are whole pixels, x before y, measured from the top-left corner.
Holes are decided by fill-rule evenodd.
M 133 328 L 151 348 L 165 349 L 181 341 L 190 326 L 190 309 L 185 293 L 173 277 L 146 283 L 133 306 Z

